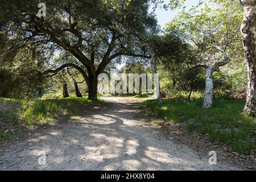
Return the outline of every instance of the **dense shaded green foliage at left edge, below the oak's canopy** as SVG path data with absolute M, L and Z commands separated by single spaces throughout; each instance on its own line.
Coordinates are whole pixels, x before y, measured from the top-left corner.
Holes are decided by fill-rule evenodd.
M 11 52 L 6 51 L 7 54 Z M 0 96 L 28 99 L 42 94 L 44 82 L 40 80 L 36 57 L 30 57 L 28 49 L 16 51 L 11 60 L 0 55 Z

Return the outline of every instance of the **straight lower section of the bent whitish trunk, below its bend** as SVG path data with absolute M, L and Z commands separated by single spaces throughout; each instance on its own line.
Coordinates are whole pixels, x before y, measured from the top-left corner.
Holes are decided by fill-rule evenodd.
M 204 94 L 204 109 L 212 108 L 212 100 L 213 100 L 213 76 L 212 73 L 214 71 L 214 67 L 209 67 L 205 74 L 205 94 Z

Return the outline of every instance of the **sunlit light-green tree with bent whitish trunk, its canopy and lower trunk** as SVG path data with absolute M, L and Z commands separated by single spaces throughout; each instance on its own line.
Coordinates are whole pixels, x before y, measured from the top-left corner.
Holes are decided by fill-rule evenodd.
M 210 1 L 201 7 L 182 11 L 168 25 L 168 31 L 176 31 L 193 46 L 193 61 L 190 67 L 203 67 L 205 73 L 205 97 L 203 107 L 209 109 L 213 102 L 213 72 L 232 60 L 241 49 L 241 8 L 231 1 Z M 240 46 L 238 46 L 240 45 Z

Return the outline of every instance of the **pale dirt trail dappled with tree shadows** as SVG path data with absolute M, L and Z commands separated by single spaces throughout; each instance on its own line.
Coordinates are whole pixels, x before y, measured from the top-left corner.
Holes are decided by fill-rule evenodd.
M 106 97 L 108 107 L 71 119 L 0 151 L 0 170 L 225 170 L 145 125 L 138 101 Z M 46 164 L 38 154 L 46 152 Z

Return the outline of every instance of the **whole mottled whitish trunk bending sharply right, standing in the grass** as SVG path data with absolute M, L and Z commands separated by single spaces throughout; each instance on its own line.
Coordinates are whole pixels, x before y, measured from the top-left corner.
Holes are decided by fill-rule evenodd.
M 212 108 L 213 103 L 213 72 L 219 71 L 219 68 L 228 64 L 231 61 L 230 57 L 224 53 L 224 59 L 220 62 L 215 63 L 213 66 L 208 67 L 205 74 L 205 94 L 204 94 L 204 109 Z

